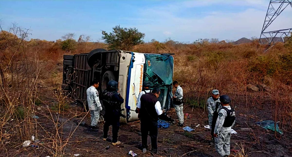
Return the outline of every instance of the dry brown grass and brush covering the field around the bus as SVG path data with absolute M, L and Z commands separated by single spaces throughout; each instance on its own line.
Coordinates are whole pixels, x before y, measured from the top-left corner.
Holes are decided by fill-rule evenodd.
M 70 139 L 77 127 L 72 127 L 66 136 L 63 125 L 76 117 L 77 114 L 85 118 L 87 113 L 70 115 L 68 96 L 57 88 L 55 97 L 57 103 L 42 101 L 46 106 L 43 114 L 54 128 L 47 131 L 44 126 L 32 118 L 36 113 L 35 104 L 39 98 L 39 86 L 55 89 L 61 83 L 63 54 L 85 53 L 95 48 L 107 48 L 104 43 L 84 42 L 77 44 L 76 50 L 65 52 L 60 49 L 60 41 L 44 40 L 26 41 L 25 31 L 13 28 L 11 34 L 0 36 L 0 145 L 3 153 L 11 156 L 8 146 L 14 142 L 13 148 L 20 148 L 24 140 L 32 135 L 46 143 L 42 146 L 51 156 L 63 156 Z M 16 32 L 15 32 L 16 31 Z M 23 34 L 23 36 L 19 36 Z M 265 92 L 258 92 L 251 96 L 246 90 L 248 84 L 266 84 L 271 88 L 271 105 L 275 106 L 274 121 L 279 123 L 284 132 L 292 130 L 292 52 L 289 46 L 277 43 L 269 52 L 263 53 L 265 45 L 258 42 L 234 45 L 230 43 L 197 43 L 183 44 L 172 40 L 166 42 L 150 42 L 137 45 L 132 51 L 143 53 L 175 53 L 174 80 L 183 84 L 184 95 L 188 105 L 206 111 L 205 102 L 212 89 L 218 89 L 221 94 L 229 94 L 233 106 L 243 106 L 246 120 L 254 118 L 251 108 L 263 107 Z M 269 95 L 268 95 L 269 96 Z M 244 98 L 244 100 L 242 99 Z M 53 110 L 52 110 L 53 107 Z M 56 112 L 58 114 L 56 115 Z M 61 120 L 67 116 L 67 120 Z M 199 114 L 206 118 L 206 112 Z M 13 119 L 13 120 L 12 120 Z M 41 134 L 41 136 L 39 136 Z M 259 142 L 260 134 L 251 135 L 255 142 Z M 276 134 L 277 138 L 281 135 Z M 166 140 L 166 142 L 168 142 Z M 18 147 L 19 146 L 19 147 Z M 236 156 L 247 156 L 244 146 L 237 145 L 241 151 Z M 24 151 L 20 149 L 20 152 Z M 19 153 L 20 153 L 19 152 Z M 15 155 L 15 154 L 14 154 Z

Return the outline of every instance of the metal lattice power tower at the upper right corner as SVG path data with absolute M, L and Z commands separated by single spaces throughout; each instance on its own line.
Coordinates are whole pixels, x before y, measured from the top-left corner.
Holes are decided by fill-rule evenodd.
M 277 7 L 274 7 L 274 6 L 276 6 L 276 4 L 277 4 Z M 289 37 L 290 33 L 292 32 L 292 28 L 265 32 L 265 30 L 280 15 L 280 13 L 285 8 L 287 8 L 287 6 L 291 6 L 291 8 L 292 8 L 292 0 L 270 0 L 270 4 L 269 4 L 268 10 L 267 10 L 263 29 L 262 29 L 262 32 L 260 34 L 261 43 L 263 44 L 263 40 L 268 42 L 268 46 L 266 47 L 265 51 L 267 51 L 268 49 L 273 47 L 275 45 L 275 43 L 279 41 L 279 39 L 281 39 L 282 42 L 285 42 L 284 37 Z M 277 35 L 280 36 L 280 38 L 275 39 L 275 37 Z M 261 38 L 262 36 L 264 37 L 264 39 Z

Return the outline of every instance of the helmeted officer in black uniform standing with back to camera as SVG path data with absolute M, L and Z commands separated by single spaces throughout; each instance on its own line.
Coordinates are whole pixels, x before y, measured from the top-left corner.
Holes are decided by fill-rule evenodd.
M 120 127 L 121 104 L 124 99 L 117 92 L 118 82 L 111 80 L 107 84 L 107 89 L 102 93 L 102 102 L 105 107 L 105 124 L 103 126 L 103 140 L 112 145 L 121 144 L 118 141 Z M 112 140 L 107 137 L 109 126 L 112 125 Z

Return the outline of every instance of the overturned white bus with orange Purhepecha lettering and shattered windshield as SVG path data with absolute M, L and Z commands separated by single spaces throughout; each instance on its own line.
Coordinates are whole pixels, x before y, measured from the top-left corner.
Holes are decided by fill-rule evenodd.
M 126 118 L 121 117 L 121 122 L 127 123 L 138 119 L 138 114 L 135 113 L 137 97 L 146 80 L 151 82 L 150 88 L 161 89 L 159 96 L 161 108 L 167 110 L 173 107 L 171 99 L 173 56 L 170 54 L 94 49 L 90 53 L 63 56 L 62 88 L 71 91 L 87 109 L 86 89 L 95 79 L 100 81 L 98 87 L 100 96 L 110 80 L 118 82 L 118 92 L 125 99 L 121 109 L 124 109 L 122 114 Z M 100 102 L 102 104 L 102 101 Z M 104 113 L 105 110 L 102 110 L 101 120 Z

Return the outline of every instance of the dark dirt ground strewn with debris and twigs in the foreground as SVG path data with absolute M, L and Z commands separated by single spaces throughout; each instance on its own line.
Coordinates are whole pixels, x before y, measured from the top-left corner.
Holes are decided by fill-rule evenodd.
M 38 126 L 39 131 L 36 138 L 44 143 L 38 144 L 39 149 L 22 147 L 22 143 L 17 142 L 17 139 L 14 138 L 2 148 L 0 156 L 53 156 L 52 152 L 55 145 L 50 138 L 57 134 L 53 122 L 58 122 L 62 144 L 67 141 L 64 156 L 73 156 L 73 154 L 80 154 L 80 156 L 127 156 L 130 150 L 137 153 L 138 156 L 154 156 L 150 152 L 143 154 L 140 150 L 139 121 L 121 124 L 119 140 L 122 144 L 112 146 L 102 141 L 103 123 L 99 125 L 100 130 L 98 132 L 92 132 L 86 126 L 79 125 L 77 127 L 78 122 L 86 115 L 82 112 L 82 107 L 71 101 L 69 111 L 62 113 L 53 111 L 50 109 L 50 106 L 56 103 L 53 99 L 53 92 L 44 88 L 40 90 L 42 91 L 40 99 L 49 105 L 47 107 L 44 103 L 39 104 L 42 109 L 35 113 L 39 116 L 36 121 L 42 127 Z M 264 103 L 269 104 L 268 99 Z M 281 138 L 277 133 L 276 138 L 275 132 L 255 125 L 255 122 L 259 120 L 271 120 L 271 109 L 271 105 L 266 105 L 264 108 L 255 106 L 250 108 L 250 114 L 247 116 L 243 106 L 236 108 L 237 116 L 234 130 L 237 131 L 237 134 L 232 134 L 231 137 L 232 155 L 239 156 L 238 154 L 243 153 L 243 151 L 248 156 L 258 157 L 292 155 L 291 132 L 284 132 Z M 214 145 L 209 144 L 211 140 L 210 130 L 204 128 L 204 125 L 208 125 L 207 114 L 203 113 L 203 110 L 193 109 L 190 105 L 185 106 L 184 113 L 191 115 L 190 118 L 185 119 L 185 125 L 195 130 L 187 132 L 176 125 L 171 125 L 167 129 L 159 128 L 157 139 L 159 155 L 155 156 L 217 156 Z M 174 109 L 169 111 L 168 114 L 176 119 Z M 85 119 L 86 124 L 90 125 L 89 114 L 86 115 Z M 200 125 L 196 127 L 198 124 Z M 250 130 L 242 130 L 242 128 L 250 128 Z M 111 135 L 111 132 L 109 134 Z M 151 147 L 150 137 L 148 137 L 148 144 Z M 105 149 L 107 146 L 110 146 L 110 148 Z

